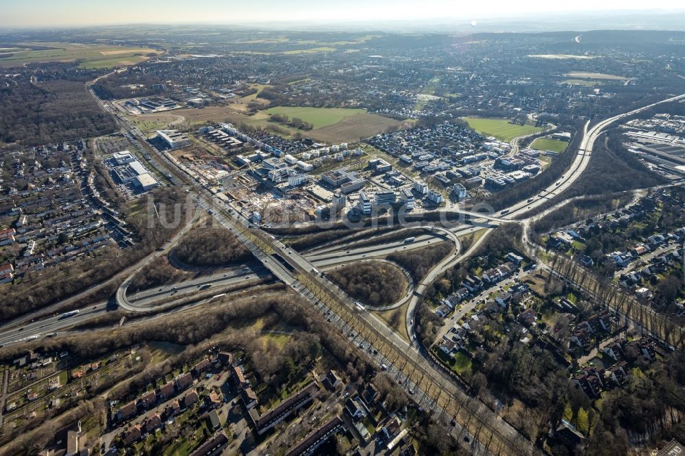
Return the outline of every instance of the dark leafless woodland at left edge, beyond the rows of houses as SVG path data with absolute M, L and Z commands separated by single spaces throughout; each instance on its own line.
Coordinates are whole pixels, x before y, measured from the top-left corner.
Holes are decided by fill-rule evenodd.
M 0 89 L 0 140 L 25 145 L 71 138 L 88 138 L 114 131 L 103 112 L 79 81 L 47 81 Z

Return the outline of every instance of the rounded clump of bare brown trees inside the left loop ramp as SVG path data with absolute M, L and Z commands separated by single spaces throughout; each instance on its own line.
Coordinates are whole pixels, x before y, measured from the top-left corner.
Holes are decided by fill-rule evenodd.
M 219 266 L 251 259 L 250 251 L 233 233 L 220 227 L 201 227 L 191 230 L 174 254 L 182 262 L 193 266 Z

